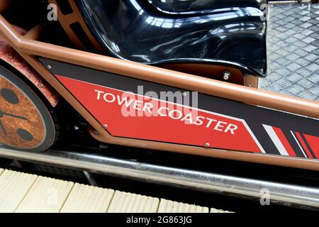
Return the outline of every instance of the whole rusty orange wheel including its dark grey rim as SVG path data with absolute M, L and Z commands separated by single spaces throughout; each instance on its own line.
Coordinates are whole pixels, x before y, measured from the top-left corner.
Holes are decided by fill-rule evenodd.
M 55 124 L 40 97 L 16 74 L 0 66 L 0 143 L 43 151 L 55 141 Z

